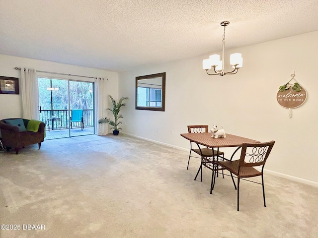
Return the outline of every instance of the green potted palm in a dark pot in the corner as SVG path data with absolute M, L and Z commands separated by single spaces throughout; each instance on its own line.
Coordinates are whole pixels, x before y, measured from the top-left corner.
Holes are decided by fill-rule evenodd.
M 117 103 L 116 100 L 111 95 L 108 95 L 108 96 L 113 103 L 113 108 L 106 108 L 106 110 L 111 111 L 113 113 L 114 120 L 111 120 L 110 118 L 104 117 L 104 118 L 99 119 L 98 123 L 99 124 L 103 124 L 103 123 L 110 124 L 112 126 L 111 129 L 114 129 L 113 134 L 118 135 L 119 130 L 122 129 L 122 128 L 118 127 L 118 125 L 122 123 L 121 121 L 119 121 L 119 119 L 123 118 L 123 116 L 119 114 L 119 111 L 120 111 L 120 108 L 122 106 L 126 106 L 126 104 L 123 103 L 123 101 L 128 99 L 128 98 L 121 97 Z

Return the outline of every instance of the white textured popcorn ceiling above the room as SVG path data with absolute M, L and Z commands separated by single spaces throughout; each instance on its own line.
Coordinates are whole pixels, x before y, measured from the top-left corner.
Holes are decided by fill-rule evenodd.
M 318 30 L 317 0 L 0 0 L 0 54 L 111 71 Z

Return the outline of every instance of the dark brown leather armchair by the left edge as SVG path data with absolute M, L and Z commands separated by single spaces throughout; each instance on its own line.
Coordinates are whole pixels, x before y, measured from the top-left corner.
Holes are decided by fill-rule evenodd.
M 41 122 L 37 132 L 33 131 L 19 131 L 19 127 L 15 125 L 10 125 L 5 122 L 5 120 L 0 120 L 0 131 L 1 131 L 1 141 L 6 147 L 6 151 L 10 148 L 15 149 L 15 153 L 19 153 L 19 149 L 32 144 L 39 144 L 39 149 L 41 148 L 41 142 L 44 141 L 45 123 Z M 28 119 L 22 119 L 25 128 L 29 122 Z

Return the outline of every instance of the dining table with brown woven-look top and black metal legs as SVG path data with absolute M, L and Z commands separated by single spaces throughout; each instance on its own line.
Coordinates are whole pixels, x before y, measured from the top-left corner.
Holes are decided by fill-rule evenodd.
M 228 133 L 226 133 L 225 137 L 218 137 L 218 138 L 212 137 L 212 132 L 207 132 L 207 133 L 181 133 L 180 135 L 182 137 L 184 137 L 185 139 L 196 143 L 199 148 L 201 148 L 202 146 L 205 146 L 205 147 L 211 148 L 212 151 L 214 151 L 216 149 L 217 150 L 217 154 L 214 155 L 214 152 L 213 152 L 213 162 L 215 162 L 215 160 L 218 159 L 217 155 L 219 154 L 219 148 L 237 147 L 236 150 L 231 155 L 231 158 L 228 159 L 228 160 L 232 161 L 234 155 L 241 148 L 243 143 L 260 143 L 260 141 L 257 141 L 257 140 L 248 139 L 248 138 L 245 138 L 245 137 L 241 137 L 241 136 L 233 135 L 233 134 L 228 134 Z M 201 160 L 202 159 L 203 158 L 201 158 Z M 213 163 L 213 166 L 216 166 L 215 163 Z M 202 180 L 202 163 L 201 163 L 200 168 L 199 168 L 199 170 L 198 170 L 198 172 L 196 174 L 195 179 L 197 178 L 200 170 L 201 170 L 201 180 Z M 215 167 L 213 168 L 213 172 L 214 171 L 215 171 Z M 233 177 L 232 177 L 232 179 L 233 179 Z M 234 180 L 233 180 L 233 182 L 234 182 Z M 210 189 L 210 193 L 211 194 L 212 194 L 212 190 L 213 190 L 213 187 L 214 187 L 214 183 L 215 183 L 215 176 L 214 176 L 214 173 L 212 173 L 211 189 Z

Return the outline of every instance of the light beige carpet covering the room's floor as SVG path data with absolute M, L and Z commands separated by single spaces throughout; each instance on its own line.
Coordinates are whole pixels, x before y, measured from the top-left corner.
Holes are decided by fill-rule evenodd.
M 269 157 L 270 159 L 270 157 Z M 44 141 L 0 152 L 1 238 L 316 238 L 318 188 L 264 175 L 242 181 L 194 176 L 188 152 L 129 136 Z M 25 230 L 23 225 L 44 225 Z M 11 227 L 12 228 L 12 227 Z

